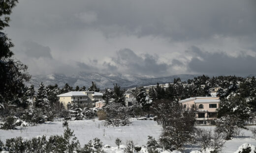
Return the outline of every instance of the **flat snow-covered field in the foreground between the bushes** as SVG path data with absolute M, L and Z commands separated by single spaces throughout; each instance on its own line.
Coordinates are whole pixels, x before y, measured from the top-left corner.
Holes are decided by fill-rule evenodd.
M 23 127 L 18 130 L 0 130 L 0 139 L 5 142 L 6 139 L 21 136 L 23 138 L 32 138 L 38 135 L 63 134 L 63 122 L 47 122 L 34 127 Z M 146 145 L 148 135 L 159 138 L 161 126 L 155 121 L 132 121 L 131 125 L 125 127 L 104 127 L 102 121 L 83 120 L 69 121 L 69 128 L 74 130 L 74 134 L 83 146 L 89 140 L 97 137 L 103 144 L 115 147 L 115 139 L 120 138 L 122 142 L 132 140 L 135 145 Z M 256 126 L 254 126 L 256 127 Z M 198 128 L 215 128 L 215 127 L 198 127 Z M 256 140 L 249 130 L 242 130 L 241 137 L 233 138 L 225 143 L 224 153 L 234 153 L 239 146 L 244 143 L 250 143 L 256 146 Z M 192 150 L 199 150 L 200 146 L 187 146 L 186 153 Z

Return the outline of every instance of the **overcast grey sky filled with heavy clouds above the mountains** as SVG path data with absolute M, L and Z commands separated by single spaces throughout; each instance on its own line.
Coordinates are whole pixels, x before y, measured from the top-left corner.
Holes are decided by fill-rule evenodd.
M 256 0 L 19 0 L 11 20 L 32 75 L 256 73 Z

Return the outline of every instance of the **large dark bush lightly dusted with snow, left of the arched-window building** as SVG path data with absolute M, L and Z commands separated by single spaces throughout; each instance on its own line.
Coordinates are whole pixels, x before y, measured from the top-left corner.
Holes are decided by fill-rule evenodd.
M 182 150 L 185 144 L 195 138 L 195 110 L 184 108 L 176 102 L 160 100 L 156 102 L 155 113 L 162 124 L 160 144 L 166 150 Z

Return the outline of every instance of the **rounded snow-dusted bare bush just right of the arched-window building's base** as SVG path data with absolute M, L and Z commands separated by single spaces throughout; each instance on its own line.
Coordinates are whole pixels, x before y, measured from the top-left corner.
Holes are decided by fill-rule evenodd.
M 245 128 L 243 121 L 234 115 L 223 116 L 217 119 L 215 123 L 217 127 L 216 130 L 225 134 L 225 140 L 230 140 L 237 128 Z

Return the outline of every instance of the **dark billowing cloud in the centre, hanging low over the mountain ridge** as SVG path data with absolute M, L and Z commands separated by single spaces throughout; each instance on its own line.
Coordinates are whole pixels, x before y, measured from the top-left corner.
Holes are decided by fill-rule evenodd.
M 123 49 L 117 52 L 117 58 L 113 61 L 131 74 L 157 75 L 166 73 L 168 64 L 158 63 L 158 57 L 150 54 L 139 56 L 130 49 Z

